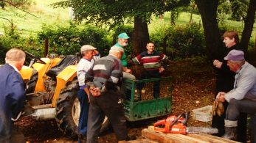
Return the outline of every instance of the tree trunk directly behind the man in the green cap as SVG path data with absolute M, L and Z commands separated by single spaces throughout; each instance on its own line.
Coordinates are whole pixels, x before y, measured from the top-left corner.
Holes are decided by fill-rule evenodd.
M 134 32 L 132 36 L 133 56 L 145 51 L 149 41 L 148 23 L 142 21 L 142 18 L 134 18 Z

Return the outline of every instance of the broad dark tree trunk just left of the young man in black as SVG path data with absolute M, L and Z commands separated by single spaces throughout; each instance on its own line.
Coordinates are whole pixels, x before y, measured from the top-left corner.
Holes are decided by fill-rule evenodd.
M 222 51 L 221 35 L 217 23 L 218 0 L 195 0 L 201 13 L 204 27 L 204 37 L 207 45 L 207 56 L 209 59 L 221 58 Z

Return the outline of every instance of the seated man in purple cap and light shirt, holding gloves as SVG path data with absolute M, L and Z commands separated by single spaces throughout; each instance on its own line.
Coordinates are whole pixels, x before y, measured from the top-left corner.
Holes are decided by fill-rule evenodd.
M 219 101 L 229 102 L 225 117 L 225 134 L 222 137 L 236 140 L 239 114 L 246 113 L 251 115 L 251 142 L 256 142 L 256 69 L 245 61 L 243 51 L 232 50 L 224 59 L 236 75 L 234 88 L 217 95 Z

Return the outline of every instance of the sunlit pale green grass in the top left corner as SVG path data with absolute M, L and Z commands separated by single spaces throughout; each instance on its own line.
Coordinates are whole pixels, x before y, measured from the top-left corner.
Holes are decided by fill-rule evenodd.
M 42 24 L 69 24 L 69 10 L 50 7 L 49 4 L 57 2 L 57 0 L 36 0 L 27 8 L 27 12 L 16 9 L 15 7 L 5 7 L 4 10 L 0 9 L 0 17 L 7 18 L 13 21 L 18 29 L 18 32 L 25 37 L 32 34 L 37 34 L 41 30 Z M 35 16 L 33 16 L 35 15 Z M 0 32 L 4 33 L 4 26 L 10 26 L 10 22 L 1 19 Z

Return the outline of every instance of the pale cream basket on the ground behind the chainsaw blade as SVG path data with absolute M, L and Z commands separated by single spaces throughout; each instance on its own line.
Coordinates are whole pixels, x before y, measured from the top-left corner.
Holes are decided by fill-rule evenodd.
M 212 106 L 201 107 L 193 110 L 193 120 L 209 122 L 212 120 Z

